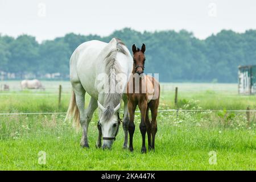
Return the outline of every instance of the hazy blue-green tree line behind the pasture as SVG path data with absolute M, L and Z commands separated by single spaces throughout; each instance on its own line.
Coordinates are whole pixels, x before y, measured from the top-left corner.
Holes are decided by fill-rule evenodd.
M 109 42 L 113 37 L 121 39 L 130 52 L 133 44 L 146 44 L 145 70 L 159 73 L 164 82 L 237 82 L 238 66 L 256 63 L 256 30 L 222 30 L 200 40 L 185 30 L 138 32 L 123 28 L 109 36 L 71 33 L 42 43 L 30 35 L 0 35 L 0 71 L 19 77 L 27 73 L 68 75 L 69 58 L 79 44 L 93 39 Z

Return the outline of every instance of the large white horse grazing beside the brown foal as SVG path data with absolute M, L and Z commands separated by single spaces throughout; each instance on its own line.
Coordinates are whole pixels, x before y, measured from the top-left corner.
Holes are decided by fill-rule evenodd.
M 73 52 L 69 64 L 73 95 L 66 118 L 73 116 L 75 123 L 81 124 L 81 146 L 89 147 L 88 125 L 94 111 L 99 107 L 99 134 L 96 147 L 101 147 L 101 137 L 102 148 L 112 147 L 120 124 L 118 109 L 123 100 L 123 148 L 127 148 L 129 113 L 125 92 L 133 69 L 133 58 L 125 44 L 117 38 L 113 38 L 109 43 L 98 40 L 82 43 Z M 120 79 L 120 75 L 123 78 Z M 115 89 L 117 85 L 119 90 Z M 90 95 L 90 103 L 85 110 L 86 92 Z

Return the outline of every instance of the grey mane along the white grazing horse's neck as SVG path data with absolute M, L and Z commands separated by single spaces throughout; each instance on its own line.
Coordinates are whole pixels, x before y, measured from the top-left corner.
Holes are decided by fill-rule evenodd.
M 106 107 L 106 110 L 104 111 L 104 118 L 106 120 L 109 120 L 110 117 L 114 114 L 114 107 L 117 106 L 120 103 L 120 100 L 122 98 L 122 93 L 117 93 L 115 90 L 115 86 L 117 85 L 117 80 L 115 79 L 115 76 L 119 73 L 122 73 L 121 71 L 121 65 L 116 61 L 117 53 L 121 52 L 125 55 L 127 55 L 127 52 L 123 48 L 125 44 L 120 40 L 115 38 L 117 40 L 117 47 L 112 49 L 112 51 L 109 52 L 109 54 L 105 57 L 105 73 L 108 74 L 108 93 L 105 93 L 104 98 L 104 106 Z

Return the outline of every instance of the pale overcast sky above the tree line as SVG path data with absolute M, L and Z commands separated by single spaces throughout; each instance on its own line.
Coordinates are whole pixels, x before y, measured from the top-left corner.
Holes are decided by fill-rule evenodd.
M 0 34 L 29 34 L 41 42 L 69 32 L 109 35 L 185 29 L 200 39 L 222 29 L 256 29 L 255 0 L 0 0 Z

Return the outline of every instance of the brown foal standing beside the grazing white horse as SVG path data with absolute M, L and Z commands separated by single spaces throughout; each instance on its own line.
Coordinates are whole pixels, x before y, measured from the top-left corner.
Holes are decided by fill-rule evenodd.
M 160 85 L 154 77 L 144 75 L 144 63 L 146 51 L 145 44 L 142 48 L 133 45 L 133 77 L 130 77 L 127 84 L 128 109 L 130 114 L 129 150 L 133 151 L 133 134 L 135 130 L 134 112 L 137 107 L 141 110 L 141 124 L 139 129 L 142 134 L 142 153 L 146 153 L 145 136 L 148 137 L 148 150 L 155 150 L 155 134 L 157 131 L 156 116 L 158 114 Z M 148 110 L 151 111 L 151 121 L 148 118 Z

